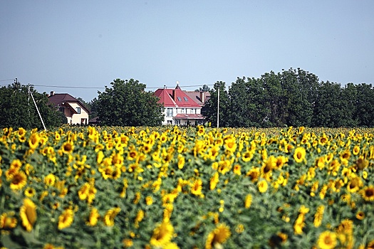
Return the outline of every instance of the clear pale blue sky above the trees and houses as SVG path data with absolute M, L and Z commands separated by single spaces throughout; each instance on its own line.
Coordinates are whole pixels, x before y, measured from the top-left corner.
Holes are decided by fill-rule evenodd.
M 18 78 L 90 101 L 115 78 L 194 90 L 301 68 L 374 83 L 373 10 L 372 0 L 0 1 L 0 85 Z

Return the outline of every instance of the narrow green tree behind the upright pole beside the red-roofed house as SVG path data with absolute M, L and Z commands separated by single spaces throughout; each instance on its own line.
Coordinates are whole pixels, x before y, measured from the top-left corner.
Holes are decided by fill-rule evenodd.
M 209 91 L 209 100 L 205 103 L 207 122 L 212 124 L 212 127 L 217 127 L 217 112 L 218 112 L 218 89 L 219 89 L 219 127 L 229 126 L 229 94 L 226 90 L 226 83 L 217 81 L 214 87 Z

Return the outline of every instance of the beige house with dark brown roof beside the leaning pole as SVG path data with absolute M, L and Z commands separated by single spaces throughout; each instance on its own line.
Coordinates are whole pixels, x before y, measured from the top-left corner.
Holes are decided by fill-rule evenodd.
M 82 102 L 68 93 L 51 92 L 48 96 L 49 102 L 56 105 L 59 111 L 68 119 L 68 124 L 88 124 L 89 111 Z

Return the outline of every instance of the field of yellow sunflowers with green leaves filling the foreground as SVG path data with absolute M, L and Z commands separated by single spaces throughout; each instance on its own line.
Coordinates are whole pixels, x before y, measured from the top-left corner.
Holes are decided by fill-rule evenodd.
M 2 248 L 374 248 L 374 129 L 0 131 Z

